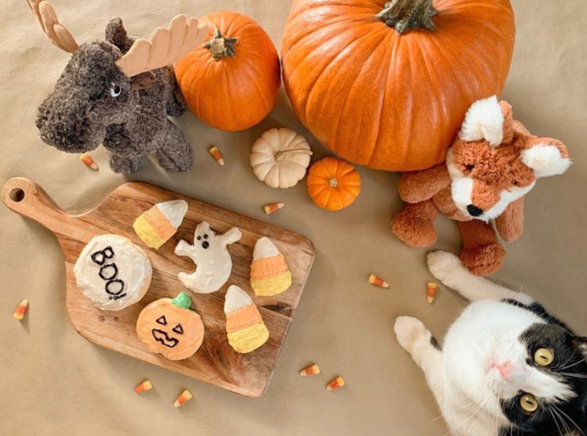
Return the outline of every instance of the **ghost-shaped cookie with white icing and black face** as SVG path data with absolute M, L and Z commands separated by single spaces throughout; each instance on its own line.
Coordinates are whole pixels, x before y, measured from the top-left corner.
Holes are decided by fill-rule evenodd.
M 197 265 L 196 271 L 191 274 L 179 273 L 181 283 L 198 294 L 218 291 L 233 270 L 233 259 L 226 246 L 238 241 L 240 236 L 240 230 L 237 227 L 233 227 L 225 234 L 217 235 L 211 231 L 210 224 L 207 222 L 198 224 L 194 233 L 194 245 L 182 240 L 175 248 L 177 256 L 188 256 Z M 207 247 L 206 242 L 208 242 Z

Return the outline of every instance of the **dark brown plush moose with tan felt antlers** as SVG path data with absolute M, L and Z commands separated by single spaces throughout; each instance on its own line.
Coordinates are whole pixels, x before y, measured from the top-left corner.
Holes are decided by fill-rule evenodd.
M 69 153 L 104 144 L 116 173 L 138 171 L 150 153 L 167 171 L 189 171 L 191 145 L 167 118 L 186 110 L 171 64 L 201 44 L 208 28 L 177 16 L 150 40 L 135 40 L 112 18 L 105 41 L 78 46 L 47 1 L 27 2 L 51 42 L 73 54 L 38 109 L 41 139 Z

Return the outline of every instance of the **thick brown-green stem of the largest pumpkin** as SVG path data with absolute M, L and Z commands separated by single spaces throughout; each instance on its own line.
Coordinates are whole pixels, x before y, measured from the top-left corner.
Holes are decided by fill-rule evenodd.
M 392 0 L 385 4 L 377 18 L 389 27 L 396 28 L 397 33 L 403 33 L 408 28 L 434 30 L 432 17 L 437 13 L 432 0 Z

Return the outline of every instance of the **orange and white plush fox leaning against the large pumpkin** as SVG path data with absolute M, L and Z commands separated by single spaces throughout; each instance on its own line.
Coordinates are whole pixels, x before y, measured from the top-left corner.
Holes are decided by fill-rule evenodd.
M 524 196 L 537 178 L 562 174 L 570 165 L 564 144 L 530 134 L 513 120 L 507 102 L 496 96 L 476 101 L 445 164 L 401 176 L 398 191 L 408 204 L 393 217 L 393 233 L 408 246 L 430 246 L 438 212 L 445 213 L 457 221 L 466 268 L 489 275 L 505 256 L 490 220 L 504 241 L 518 239 Z

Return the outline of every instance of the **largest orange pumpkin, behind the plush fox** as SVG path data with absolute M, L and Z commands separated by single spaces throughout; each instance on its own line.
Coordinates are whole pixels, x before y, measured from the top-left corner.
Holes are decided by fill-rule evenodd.
M 471 103 L 501 93 L 510 1 L 430 4 L 293 0 L 286 91 L 303 125 L 345 159 L 388 171 L 439 164 Z

